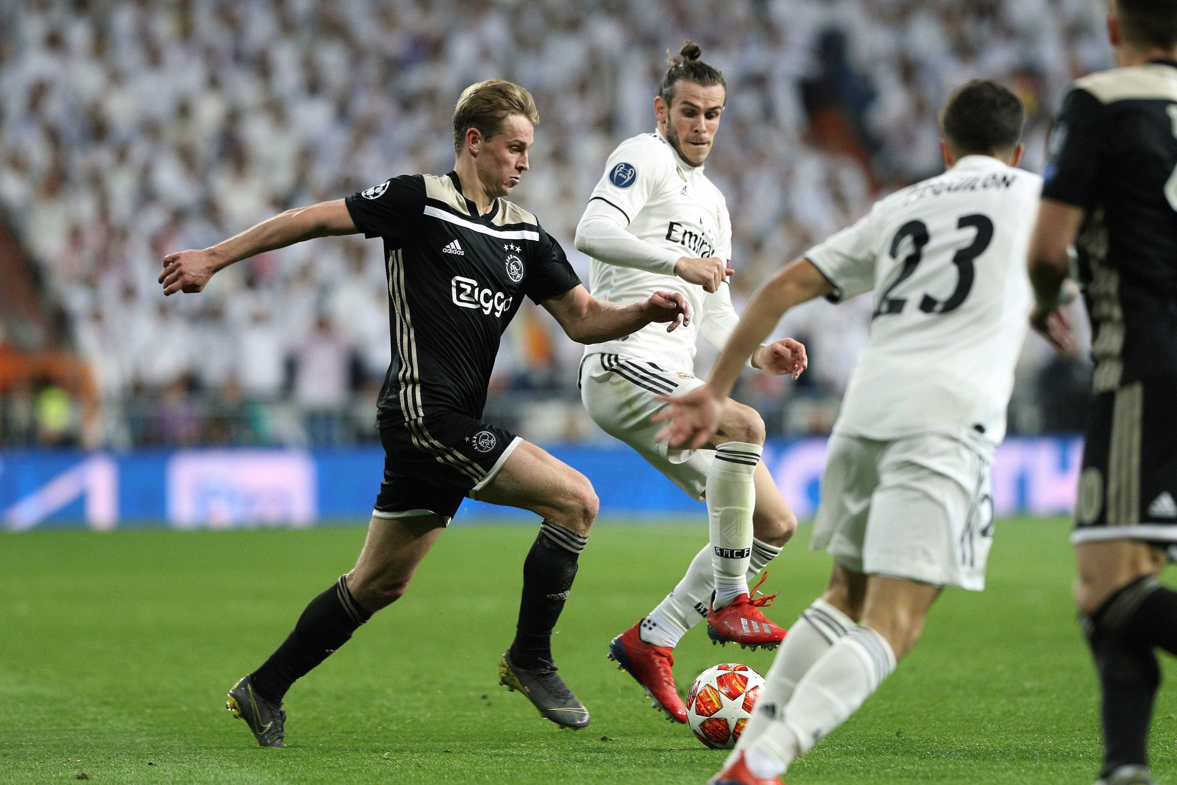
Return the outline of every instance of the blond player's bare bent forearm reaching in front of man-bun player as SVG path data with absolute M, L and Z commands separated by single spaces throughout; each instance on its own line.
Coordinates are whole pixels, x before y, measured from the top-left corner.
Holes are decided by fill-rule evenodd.
M 584 286 L 573 286 L 541 305 L 577 343 L 613 341 L 651 322 L 669 322 L 667 332 L 691 323 L 691 306 L 678 292 L 656 291 L 640 303 L 617 305 L 597 299 Z

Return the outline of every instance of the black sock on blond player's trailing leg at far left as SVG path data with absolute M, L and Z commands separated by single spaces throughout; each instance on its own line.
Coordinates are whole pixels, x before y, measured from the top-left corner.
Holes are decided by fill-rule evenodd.
M 372 618 L 347 589 L 346 575 L 311 600 L 294 631 L 278 651 L 252 675 L 253 688 L 262 698 L 281 701 L 297 679 L 306 675 L 351 639 Z

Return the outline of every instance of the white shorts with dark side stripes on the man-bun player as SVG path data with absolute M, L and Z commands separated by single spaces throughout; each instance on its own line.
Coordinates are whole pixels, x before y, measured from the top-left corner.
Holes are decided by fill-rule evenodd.
M 580 400 L 593 422 L 640 453 L 696 501 L 703 501 L 716 451 L 670 449 L 654 440 L 666 423 L 652 423 L 650 417 L 666 407 L 654 396 L 680 395 L 703 383 L 689 371 L 620 355 L 586 355 L 580 363 Z

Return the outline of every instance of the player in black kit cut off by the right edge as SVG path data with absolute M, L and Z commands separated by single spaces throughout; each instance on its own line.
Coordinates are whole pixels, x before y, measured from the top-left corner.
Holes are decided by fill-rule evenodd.
M 1112 0 L 1117 68 L 1075 83 L 1051 134 L 1030 250 L 1032 317 L 1056 343 L 1075 245 L 1092 407 L 1075 508 L 1076 601 L 1103 692 L 1098 785 L 1152 785 L 1156 649 L 1177 654 L 1177 0 Z

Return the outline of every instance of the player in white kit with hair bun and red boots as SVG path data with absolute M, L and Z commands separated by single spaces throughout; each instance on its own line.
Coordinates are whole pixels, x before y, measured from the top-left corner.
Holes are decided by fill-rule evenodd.
M 706 499 L 711 542 L 670 595 L 610 645 L 610 658 L 638 680 L 667 718 L 686 721 L 674 690 L 673 647 L 707 619 L 713 641 L 773 648 L 785 631 L 753 598 L 749 578 L 760 572 L 797 522 L 760 463 L 764 423 L 756 410 L 729 401 L 719 434 L 700 450 L 669 450 L 654 436 L 659 396 L 691 390 L 694 344 L 701 331 L 716 348 L 739 317 L 726 283 L 731 220 L 723 193 L 703 173 L 726 90 L 723 74 L 698 60 L 687 41 L 671 58 L 654 113 L 658 130 L 618 145 L 577 227 L 577 248 L 592 257 L 598 297 L 639 301 L 656 290 L 680 292 L 694 318 L 673 335 L 643 329 L 585 348 L 580 389 L 592 418 L 626 442 L 696 500 Z M 762 347 L 753 365 L 800 374 L 804 347 L 786 339 Z M 754 512 L 753 512 L 754 510 Z

